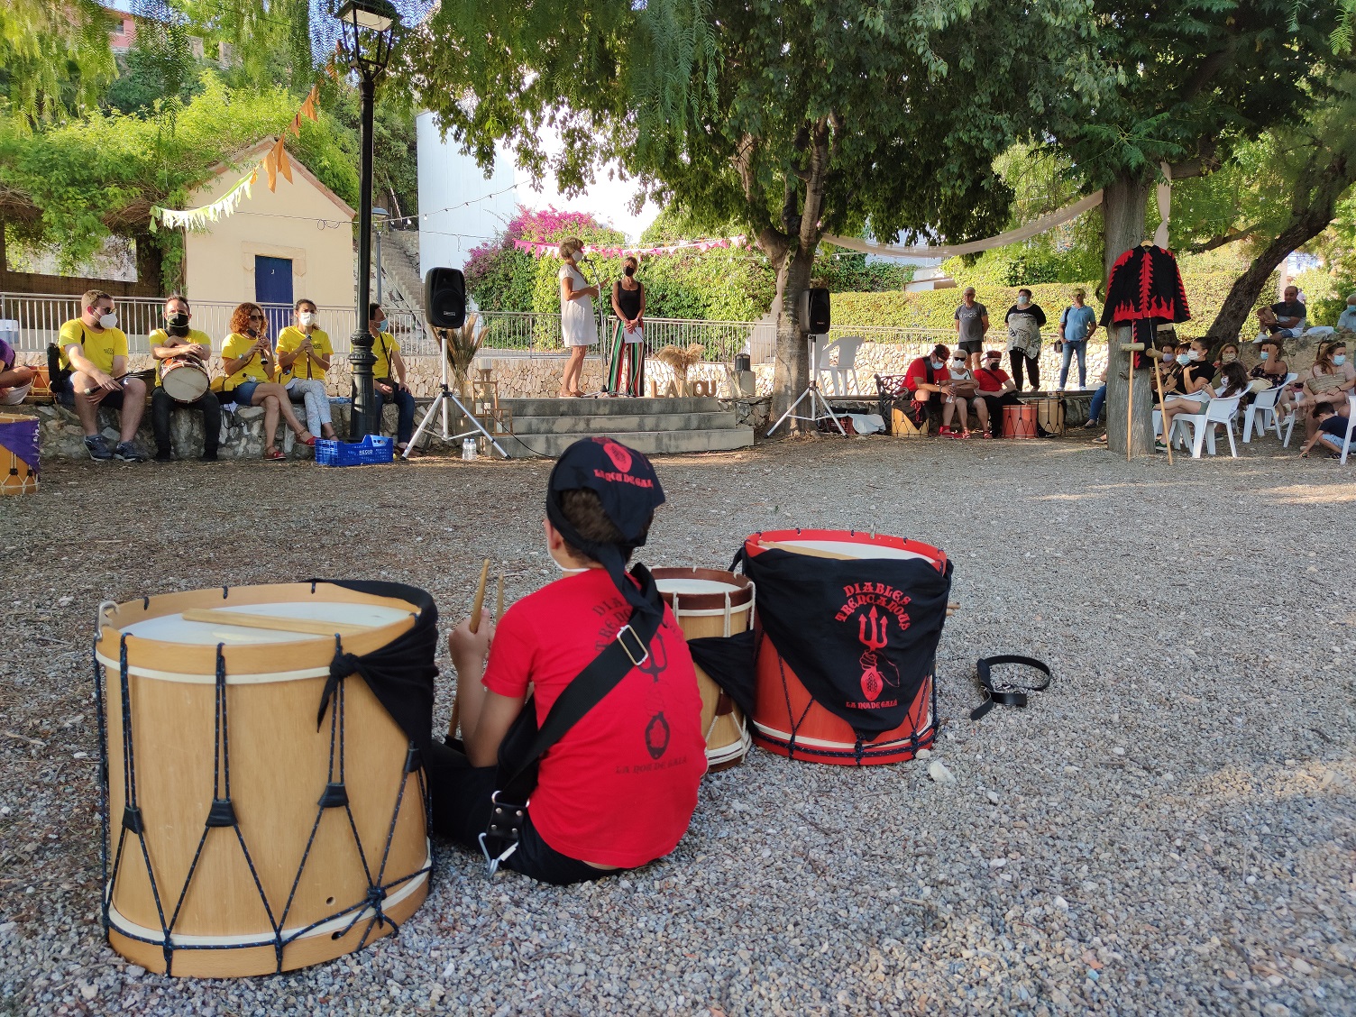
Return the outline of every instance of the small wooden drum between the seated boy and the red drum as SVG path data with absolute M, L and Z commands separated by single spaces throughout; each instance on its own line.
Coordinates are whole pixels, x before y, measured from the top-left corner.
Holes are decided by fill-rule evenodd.
M 655 586 L 687 639 L 727 637 L 753 628 L 754 584 L 747 576 L 716 568 L 655 568 Z M 706 732 L 706 769 L 738 766 L 753 742 L 744 712 L 697 667 L 701 728 Z

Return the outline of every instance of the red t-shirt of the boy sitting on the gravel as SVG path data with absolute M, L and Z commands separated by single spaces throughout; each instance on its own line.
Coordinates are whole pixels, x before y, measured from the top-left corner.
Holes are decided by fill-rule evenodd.
M 537 723 L 565 686 L 617 636 L 632 607 L 601 568 L 557 579 L 504 612 L 484 685 L 525 696 Z M 532 823 L 579 861 L 635 868 L 669 854 L 697 808 L 706 772 L 701 694 L 673 612 L 633 667 L 541 758 Z M 652 669 L 652 670 L 645 670 Z

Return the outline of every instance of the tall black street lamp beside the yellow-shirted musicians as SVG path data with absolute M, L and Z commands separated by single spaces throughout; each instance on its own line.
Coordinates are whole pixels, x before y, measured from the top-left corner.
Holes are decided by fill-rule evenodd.
M 362 441 L 381 428 L 381 411 L 372 386 L 372 332 L 367 304 L 372 286 L 372 100 L 377 79 L 391 60 L 391 41 L 400 27 L 400 12 L 391 0 L 344 0 L 335 11 L 343 34 L 339 49 L 358 73 L 362 96 L 362 157 L 358 168 L 358 300 L 357 328 L 348 363 L 353 366 L 353 416 L 348 437 Z

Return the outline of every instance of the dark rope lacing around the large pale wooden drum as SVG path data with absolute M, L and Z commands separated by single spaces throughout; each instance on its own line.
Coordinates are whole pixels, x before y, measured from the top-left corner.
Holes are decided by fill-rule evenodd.
M 312 591 L 315 587 L 312 586 Z M 222 587 L 222 598 L 228 597 L 228 587 Z M 100 603 L 96 631 L 102 625 L 104 607 L 117 606 L 111 602 Z M 151 598 L 144 598 L 142 610 L 148 610 L 151 606 Z M 222 655 L 222 644 L 217 644 L 216 658 L 216 682 L 214 682 L 214 744 L 213 744 L 213 803 L 209 808 L 206 822 L 203 824 L 202 837 L 198 841 L 198 849 L 194 853 L 193 862 L 188 866 L 188 872 L 184 876 L 183 888 L 179 894 L 179 900 L 175 904 L 174 915 L 170 922 L 165 922 L 164 904 L 160 898 L 160 887 L 156 879 L 155 866 L 151 862 L 151 852 L 145 839 L 145 822 L 141 815 L 141 807 L 137 803 L 137 778 L 136 778 L 136 755 L 134 755 L 134 738 L 132 725 L 132 693 L 130 693 L 130 679 L 129 679 L 129 666 L 127 666 L 127 633 L 122 632 L 118 641 L 118 671 L 119 671 L 119 690 L 121 690 L 121 720 L 122 720 L 122 770 L 123 770 L 123 815 L 121 823 L 121 831 L 118 834 L 118 848 L 113 860 L 113 872 L 110 876 L 108 871 L 108 854 L 111 846 L 111 830 L 110 830 L 110 816 L 108 816 L 108 744 L 107 744 L 107 730 L 104 724 L 104 690 L 103 690 L 103 666 L 99 663 L 99 640 L 100 635 L 95 636 L 94 640 L 94 681 L 95 681 L 95 701 L 99 708 L 99 757 L 100 757 L 100 801 L 102 801 L 102 871 L 103 871 L 103 900 L 102 900 L 102 919 L 104 934 L 111 929 L 110 909 L 113 906 L 113 891 L 117 883 L 118 873 L 122 868 L 122 856 L 126 848 L 127 833 L 130 831 L 136 835 L 137 842 L 141 848 L 142 861 L 146 868 L 146 879 L 151 885 L 152 898 L 156 904 L 156 914 L 160 923 L 161 938 L 155 940 L 148 936 L 140 936 L 137 933 L 129 932 L 127 929 L 118 928 L 118 934 L 129 940 L 138 942 L 145 942 L 149 945 L 157 945 L 161 948 L 165 959 L 165 974 L 174 974 L 174 955 L 179 949 L 251 949 L 258 946 L 273 946 L 274 957 L 277 964 L 277 974 L 282 974 L 283 961 L 283 948 L 301 938 L 311 930 L 335 919 L 343 918 L 347 914 L 353 914 L 353 919 L 339 932 L 334 933 L 332 938 L 338 940 L 346 936 L 357 923 L 362 919 L 366 910 L 372 910 L 372 918 L 367 922 L 367 928 L 363 930 L 362 938 L 359 940 L 355 949 L 362 949 L 367 944 L 367 937 L 372 934 L 374 928 L 381 928 L 382 925 L 389 925 L 393 933 L 397 933 L 400 926 L 389 918 L 382 910 L 382 904 L 388 896 L 388 892 L 400 885 L 401 883 L 408 883 L 410 880 L 418 879 L 419 876 L 428 872 L 433 866 L 431 864 L 423 865 L 418 871 L 410 873 L 408 876 L 401 876 L 392 880 L 391 883 L 382 883 L 385 876 L 386 862 L 391 856 L 391 849 L 395 841 L 396 824 L 400 818 L 400 807 L 404 801 L 405 785 L 410 780 L 411 773 L 418 773 L 418 784 L 420 789 L 420 796 L 424 805 L 424 818 L 428 818 L 428 796 L 427 788 L 423 780 L 423 772 L 420 767 L 419 753 L 414 743 L 410 743 L 410 749 L 405 754 L 404 772 L 401 773 L 400 785 L 396 792 L 396 804 L 392 810 L 391 824 L 386 831 L 386 842 L 382 848 L 381 854 L 381 868 L 377 873 L 377 880 L 372 879 L 372 869 L 367 865 L 366 853 L 362 848 L 362 838 L 358 834 L 357 820 L 354 819 L 353 810 L 348 805 L 347 792 L 344 789 L 344 723 L 343 723 L 343 705 L 344 705 L 344 683 L 343 677 L 353 674 L 357 670 L 358 658 L 344 654 L 340 637 L 335 636 L 335 658 L 331 663 L 331 674 L 335 669 L 347 667 L 348 671 L 339 679 L 331 679 L 335 686 L 334 696 L 334 709 L 330 711 L 330 758 L 328 758 L 328 782 L 325 791 L 317 803 L 319 811 L 316 816 L 316 823 L 312 826 L 311 838 L 306 841 L 306 849 L 302 853 L 301 864 L 297 868 L 297 875 L 292 883 L 292 891 L 287 895 L 287 904 L 278 919 L 273 917 L 273 909 L 268 904 L 268 898 L 263 890 L 263 883 L 259 877 L 259 872 L 255 868 L 254 858 L 250 854 L 248 845 L 245 843 L 244 833 L 240 830 L 239 820 L 235 815 L 235 807 L 231 801 L 231 758 L 229 758 L 229 724 L 228 724 L 228 709 L 226 709 L 226 666 L 225 658 Z M 327 690 L 331 686 L 327 683 Z M 321 719 L 324 706 L 321 706 Z M 338 759 L 339 781 L 334 781 L 335 763 Z M 224 792 L 224 793 L 222 793 Z M 311 856 L 312 845 L 315 843 L 316 831 L 320 826 L 320 818 L 324 815 L 327 808 L 335 805 L 343 805 L 344 812 L 348 818 L 348 827 L 353 831 L 354 845 L 358 849 L 358 857 L 362 862 L 363 876 L 367 881 L 367 890 L 363 898 L 348 907 L 344 907 L 331 915 L 316 919 L 309 925 L 297 929 L 296 932 L 285 936 L 283 929 L 286 928 L 287 913 L 292 909 L 293 900 L 297 894 L 297 888 L 301 883 L 301 876 L 305 871 L 306 861 Z M 236 838 L 240 843 L 244 861 L 250 868 L 250 876 L 254 880 L 255 890 L 259 894 L 259 900 L 263 904 L 264 915 L 267 917 L 268 926 L 271 929 L 271 936 L 268 938 L 247 940 L 244 942 L 235 944 L 175 944 L 174 942 L 174 926 L 179 919 L 179 913 L 183 907 L 184 899 L 187 898 L 188 888 L 193 885 L 193 879 L 197 872 L 198 861 L 202 856 L 202 849 L 206 843 L 207 834 L 214 827 L 231 826 L 236 831 Z

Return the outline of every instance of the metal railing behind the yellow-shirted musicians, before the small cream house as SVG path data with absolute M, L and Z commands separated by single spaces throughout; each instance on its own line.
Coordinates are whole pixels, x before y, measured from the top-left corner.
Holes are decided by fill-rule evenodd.
M 118 312 L 118 328 L 127 334 L 127 353 L 149 354 L 146 336 L 164 325 L 164 301 L 152 297 L 121 297 L 114 300 Z M 193 327 L 212 338 L 212 346 L 218 353 L 231 334 L 231 313 L 239 306 L 226 301 L 191 301 Z M 268 316 L 268 334 L 278 332 L 292 320 L 292 306 L 260 304 Z M 16 332 L 9 342 L 20 353 L 42 353 L 49 343 L 56 343 L 61 325 L 80 317 L 80 297 L 49 293 L 0 293 L 0 332 Z M 335 353 L 347 354 L 348 339 L 357 320 L 354 308 L 317 306 L 316 325 L 321 328 L 334 346 Z M 438 343 L 431 339 L 414 315 L 388 312 L 391 332 L 400 340 L 407 357 L 438 353 Z

